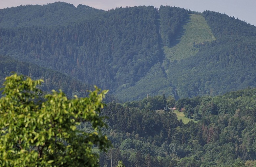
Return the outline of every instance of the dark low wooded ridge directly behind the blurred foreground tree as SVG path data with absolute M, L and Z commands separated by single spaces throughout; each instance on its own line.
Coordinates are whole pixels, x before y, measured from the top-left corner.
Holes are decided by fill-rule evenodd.
M 5 77 L 10 76 L 11 72 L 14 71 L 18 74 L 29 76 L 34 80 L 43 79 L 44 83 L 39 86 L 43 94 L 49 93 L 53 89 L 56 91 L 61 89 L 68 98 L 73 98 L 74 95 L 86 97 L 89 95 L 87 90 L 94 90 L 92 85 L 82 83 L 65 74 L 0 55 L 0 84 L 2 85 L 5 81 Z M 110 94 L 107 94 L 104 99 L 105 102 L 112 102 L 113 100 L 118 102 L 118 100 Z

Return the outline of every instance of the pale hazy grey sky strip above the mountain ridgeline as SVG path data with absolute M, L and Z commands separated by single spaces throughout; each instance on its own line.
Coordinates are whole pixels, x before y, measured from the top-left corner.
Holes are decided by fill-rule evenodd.
M 75 5 L 88 5 L 96 9 L 108 10 L 116 7 L 133 7 L 140 5 L 153 5 L 159 8 L 160 5 L 176 6 L 191 9 L 199 12 L 204 10 L 225 13 L 228 16 L 235 16 L 256 26 L 256 0 L 63 0 L 64 2 Z M 0 0 L 0 9 L 16 7 L 27 4 L 47 4 L 55 0 Z M 58 1 L 57 1 L 58 2 Z

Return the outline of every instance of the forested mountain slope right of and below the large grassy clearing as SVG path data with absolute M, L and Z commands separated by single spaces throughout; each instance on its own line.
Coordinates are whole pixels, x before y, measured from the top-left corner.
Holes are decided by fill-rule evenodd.
M 203 16 L 216 40 L 170 68 L 179 97 L 255 87 L 256 27 L 221 13 L 206 11 Z

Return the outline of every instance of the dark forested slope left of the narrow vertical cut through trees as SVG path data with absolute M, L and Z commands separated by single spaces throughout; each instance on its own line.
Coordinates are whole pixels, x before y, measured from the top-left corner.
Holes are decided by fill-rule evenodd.
M 0 53 L 114 92 L 159 61 L 155 16 L 153 7 L 136 7 L 100 11 L 68 26 L 3 28 Z

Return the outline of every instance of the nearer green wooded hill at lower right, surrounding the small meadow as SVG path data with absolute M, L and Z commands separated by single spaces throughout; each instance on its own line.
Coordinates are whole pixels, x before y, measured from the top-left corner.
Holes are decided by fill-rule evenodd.
M 177 119 L 166 105 L 183 108 Z M 150 106 L 150 107 L 149 107 Z M 256 89 L 222 96 L 174 101 L 164 95 L 140 101 L 108 103 L 106 134 L 113 148 L 100 156 L 101 166 L 252 167 L 256 165 Z M 86 127 L 86 126 L 85 126 Z

